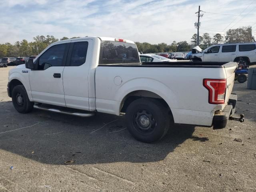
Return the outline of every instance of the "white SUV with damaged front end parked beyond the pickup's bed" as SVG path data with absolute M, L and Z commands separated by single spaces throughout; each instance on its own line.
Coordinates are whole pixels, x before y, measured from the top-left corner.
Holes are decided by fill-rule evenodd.
M 198 46 L 192 54 L 196 61 L 215 61 L 215 62 L 238 62 L 243 58 L 247 65 L 256 64 L 256 43 L 232 43 L 213 45 L 202 51 Z

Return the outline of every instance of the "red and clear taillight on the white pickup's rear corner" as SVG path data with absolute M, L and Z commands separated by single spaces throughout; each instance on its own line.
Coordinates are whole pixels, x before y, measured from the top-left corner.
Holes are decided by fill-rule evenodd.
M 226 79 L 204 79 L 203 85 L 209 92 L 210 104 L 224 104 L 226 92 Z

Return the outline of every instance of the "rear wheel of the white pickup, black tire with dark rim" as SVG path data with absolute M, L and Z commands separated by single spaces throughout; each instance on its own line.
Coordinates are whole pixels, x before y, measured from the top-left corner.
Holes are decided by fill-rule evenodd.
M 135 100 L 128 106 L 125 116 L 128 131 L 141 142 L 160 140 L 170 127 L 170 114 L 156 99 Z

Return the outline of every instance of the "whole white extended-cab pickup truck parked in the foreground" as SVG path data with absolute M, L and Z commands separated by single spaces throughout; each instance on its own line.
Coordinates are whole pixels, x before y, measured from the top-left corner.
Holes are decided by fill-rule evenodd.
M 172 123 L 224 128 L 236 106 L 236 68 L 236 62 L 142 64 L 132 41 L 84 37 L 55 42 L 10 70 L 7 90 L 20 113 L 125 114 L 137 140 L 154 142 Z

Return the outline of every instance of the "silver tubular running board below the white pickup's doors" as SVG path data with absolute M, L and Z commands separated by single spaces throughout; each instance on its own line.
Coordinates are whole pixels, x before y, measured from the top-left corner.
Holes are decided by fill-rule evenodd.
M 79 116 L 79 117 L 91 117 L 94 116 L 94 113 L 86 113 L 85 112 L 76 112 L 74 109 L 72 110 L 68 110 L 65 108 L 61 108 L 61 109 L 57 109 L 56 108 L 52 108 L 52 106 L 42 106 L 42 105 L 34 105 L 34 108 L 36 109 L 42 109 L 42 110 L 46 110 L 46 111 L 52 111 L 52 112 L 56 112 L 56 113 L 62 113 L 62 114 L 68 114 L 68 115 L 74 115 L 74 116 Z M 81 110 L 78 110 L 81 111 Z

